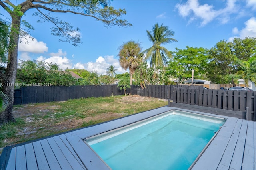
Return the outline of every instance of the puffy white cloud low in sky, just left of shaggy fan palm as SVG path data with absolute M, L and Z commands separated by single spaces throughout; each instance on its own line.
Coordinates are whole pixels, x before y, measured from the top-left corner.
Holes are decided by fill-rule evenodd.
M 88 62 L 83 64 L 87 71 L 98 71 L 98 73 L 106 75 L 107 68 L 113 65 L 117 69 L 116 73 L 124 73 L 124 69 L 121 68 L 118 59 L 114 59 L 114 56 L 106 55 L 104 57 L 99 56 L 95 62 Z

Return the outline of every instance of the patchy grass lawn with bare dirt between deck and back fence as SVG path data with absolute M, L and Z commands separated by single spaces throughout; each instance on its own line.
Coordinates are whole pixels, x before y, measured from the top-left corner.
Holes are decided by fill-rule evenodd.
M 165 105 L 167 101 L 138 95 L 15 105 L 16 122 L 1 126 L 0 147 L 94 125 Z

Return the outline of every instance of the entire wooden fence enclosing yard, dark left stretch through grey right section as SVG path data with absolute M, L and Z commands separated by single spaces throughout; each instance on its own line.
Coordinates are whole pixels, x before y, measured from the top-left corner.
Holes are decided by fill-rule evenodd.
M 128 94 L 170 99 L 170 106 L 256 121 L 256 93 L 203 89 L 203 86 L 132 85 Z M 124 95 L 117 85 L 28 86 L 15 91 L 14 104 L 66 101 L 87 97 Z M 208 109 L 207 109 L 208 108 Z M 206 111 L 207 110 L 207 111 Z M 246 115 L 247 114 L 247 115 Z

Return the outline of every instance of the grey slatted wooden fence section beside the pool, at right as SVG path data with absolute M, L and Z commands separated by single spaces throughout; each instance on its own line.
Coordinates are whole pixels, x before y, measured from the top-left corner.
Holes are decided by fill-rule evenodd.
M 256 121 L 256 93 L 253 91 L 174 88 L 172 96 L 172 106 L 188 108 L 190 105 L 190 109 L 202 111 L 208 107 L 215 114 L 226 112 L 228 116 Z

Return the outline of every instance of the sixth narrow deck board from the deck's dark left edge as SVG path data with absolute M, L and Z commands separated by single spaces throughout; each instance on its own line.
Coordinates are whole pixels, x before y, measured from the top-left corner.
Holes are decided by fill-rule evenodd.
M 60 150 L 58 144 L 55 142 L 53 138 L 48 138 L 47 139 L 50 147 L 52 148 L 52 152 L 54 153 L 56 159 L 58 160 L 60 167 L 62 170 L 70 170 L 72 167 L 70 166 L 68 160 L 62 153 L 62 150 Z

